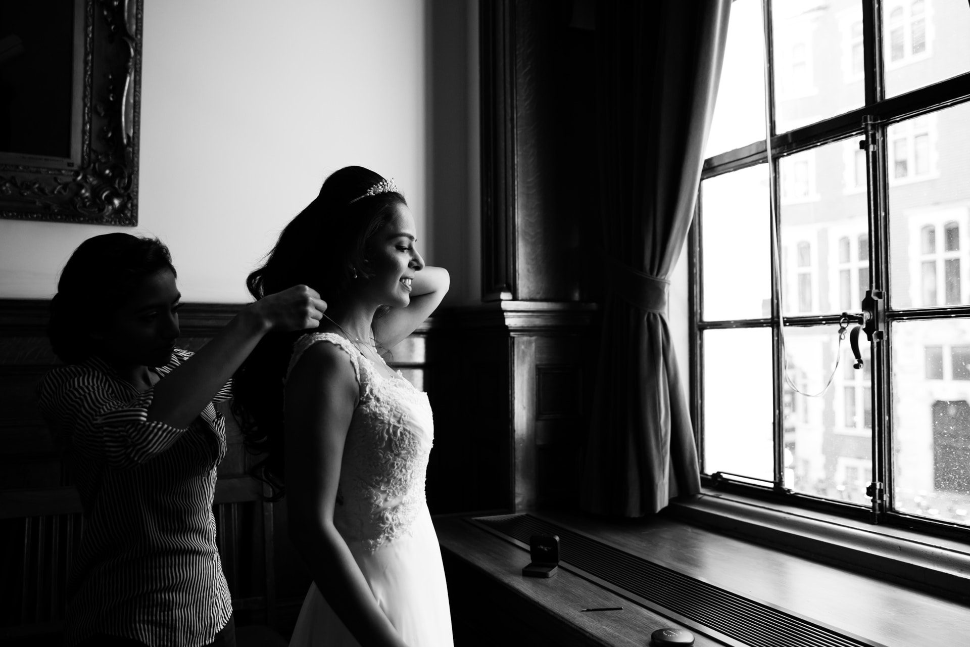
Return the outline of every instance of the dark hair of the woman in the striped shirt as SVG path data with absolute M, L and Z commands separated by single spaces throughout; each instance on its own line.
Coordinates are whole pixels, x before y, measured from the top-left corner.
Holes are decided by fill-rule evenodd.
M 153 238 L 116 232 L 89 238 L 74 250 L 50 301 L 48 339 L 65 364 L 78 364 L 94 354 L 91 327 L 106 308 L 123 306 L 147 276 L 162 270 L 176 275 L 172 254 Z

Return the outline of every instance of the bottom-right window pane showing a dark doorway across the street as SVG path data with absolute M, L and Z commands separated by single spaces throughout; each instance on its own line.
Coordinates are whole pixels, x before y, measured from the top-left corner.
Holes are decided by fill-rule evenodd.
M 895 322 L 889 332 L 895 509 L 970 523 L 970 321 Z M 953 364 L 942 377 L 937 349 Z

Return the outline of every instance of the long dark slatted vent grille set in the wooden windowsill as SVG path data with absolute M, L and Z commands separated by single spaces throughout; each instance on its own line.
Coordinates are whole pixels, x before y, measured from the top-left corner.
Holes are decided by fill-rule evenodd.
M 523 542 L 533 534 L 558 534 L 560 566 L 728 644 L 752 647 L 885 647 L 837 631 L 779 607 L 745 598 L 683 573 L 570 531 L 531 514 L 469 519 Z M 632 596 L 628 595 L 632 594 Z M 660 607 L 660 608 L 657 608 Z M 693 622 L 692 622 L 693 621 Z

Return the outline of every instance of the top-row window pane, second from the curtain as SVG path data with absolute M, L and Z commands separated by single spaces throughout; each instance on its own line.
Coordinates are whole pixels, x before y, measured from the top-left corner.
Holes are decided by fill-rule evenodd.
M 863 105 L 861 3 L 772 0 L 771 16 L 776 133 Z

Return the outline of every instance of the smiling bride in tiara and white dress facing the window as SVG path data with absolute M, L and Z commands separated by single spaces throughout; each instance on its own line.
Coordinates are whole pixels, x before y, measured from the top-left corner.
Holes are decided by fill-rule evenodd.
M 452 645 L 424 481 L 425 393 L 383 356 L 441 302 L 394 185 L 361 167 L 327 178 L 249 275 L 256 298 L 303 282 L 329 308 L 319 329 L 264 339 L 236 381 L 247 444 L 282 496 L 313 583 L 291 647 Z

